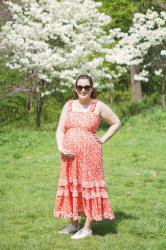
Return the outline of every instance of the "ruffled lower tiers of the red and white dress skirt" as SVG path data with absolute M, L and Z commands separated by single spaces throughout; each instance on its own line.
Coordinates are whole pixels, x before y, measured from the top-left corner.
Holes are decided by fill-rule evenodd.
M 104 180 L 75 184 L 60 180 L 54 217 L 78 220 L 79 216 L 85 216 L 96 221 L 115 218 Z

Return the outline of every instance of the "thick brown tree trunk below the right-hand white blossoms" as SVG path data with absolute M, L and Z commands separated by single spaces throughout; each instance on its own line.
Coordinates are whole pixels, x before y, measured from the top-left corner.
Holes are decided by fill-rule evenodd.
M 131 79 L 131 93 L 132 93 L 132 101 L 140 102 L 142 101 L 142 86 L 140 81 L 134 80 L 134 75 L 139 73 L 138 66 L 130 67 L 130 79 Z

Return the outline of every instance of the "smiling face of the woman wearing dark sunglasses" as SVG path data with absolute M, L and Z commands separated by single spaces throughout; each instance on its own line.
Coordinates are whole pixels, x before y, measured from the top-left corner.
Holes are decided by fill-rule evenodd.
M 79 99 L 89 99 L 93 88 L 90 86 L 88 79 L 79 79 L 75 91 Z

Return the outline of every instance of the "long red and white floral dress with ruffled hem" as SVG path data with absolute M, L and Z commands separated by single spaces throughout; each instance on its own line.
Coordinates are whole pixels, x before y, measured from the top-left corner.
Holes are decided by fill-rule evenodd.
M 96 139 L 101 118 L 93 111 L 98 100 L 92 99 L 86 113 L 72 111 L 72 102 L 68 101 L 63 144 L 75 157 L 61 156 L 54 217 L 112 220 L 115 216 L 104 180 L 102 145 Z

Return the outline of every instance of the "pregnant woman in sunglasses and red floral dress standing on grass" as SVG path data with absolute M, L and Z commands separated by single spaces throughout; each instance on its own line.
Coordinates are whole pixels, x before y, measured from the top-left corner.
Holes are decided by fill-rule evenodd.
M 54 217 L 71 218 L 59 233 L 74 233 L 71 239 L 92 235 L 92 221 L 114 219 L 102 165 L 102 144 L 120 128 L 120 120 L 103 102 L 95 99 L 92 78 L 80 75 L 75 83 L 76 100 L 63 107 L 56 140 L 61 153 L 61 170 Z M 98 138 L 101 120 L 110 127 Z M 85 216 L 83 228 L 78 217 Z

